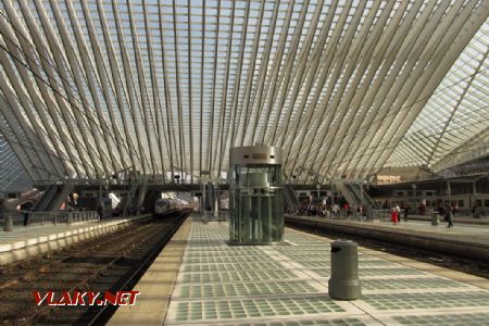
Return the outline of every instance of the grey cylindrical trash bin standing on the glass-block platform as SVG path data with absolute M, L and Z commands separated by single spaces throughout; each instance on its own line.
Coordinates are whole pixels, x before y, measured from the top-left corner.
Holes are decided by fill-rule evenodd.
M 359 250 L 351 240 L 331 243 L 331 277 L 328 281 L 329 297 L 339 300 L 355 300 L 362 296 L 359 279 Z

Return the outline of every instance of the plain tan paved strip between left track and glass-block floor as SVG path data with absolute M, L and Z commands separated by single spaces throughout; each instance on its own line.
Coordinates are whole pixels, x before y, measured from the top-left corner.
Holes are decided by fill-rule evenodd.
M 120 306 L 109 325 L 161 325 L 178 275 L 190 233 L 189 218 L 173 236 L 134 288 L 139 291 L 135 305 Z

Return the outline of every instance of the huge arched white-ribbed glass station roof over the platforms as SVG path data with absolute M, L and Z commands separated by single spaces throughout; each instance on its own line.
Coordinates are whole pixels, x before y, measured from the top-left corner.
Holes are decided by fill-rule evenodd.
M 1 168 L 198 183 L 269 145 L 314 183 L 484 158 L 488 16 L 485 0 L 2 1 Z

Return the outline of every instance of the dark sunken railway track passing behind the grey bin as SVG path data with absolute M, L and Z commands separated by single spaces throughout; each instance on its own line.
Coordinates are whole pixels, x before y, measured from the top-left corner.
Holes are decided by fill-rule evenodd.
M 384 251 L 394 255 L 426 262 L 444 268 L 489 278 L 489 262 L 486 260 L 480 260 L 467 255 L 463 256 L 450 252 L 427 250 L 425 248 L 416 248 L 413 246 L 403 246 L 399 242 L 379 240 L 378 238 L 371 238 L 364 235 L 360 236 L 356 234 L 352 234 L 347 229 L 344 231 L 334 231 L 325 228 L 316 228 L 311 225 L 301 224 L 297 220 L 287 221 L 286 218 L 286 226 L 331 239 L 347 238 L 365 248 Z

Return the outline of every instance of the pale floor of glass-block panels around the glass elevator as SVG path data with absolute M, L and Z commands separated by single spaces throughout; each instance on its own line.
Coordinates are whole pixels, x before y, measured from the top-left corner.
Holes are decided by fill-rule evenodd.
M 228 246 L 228 224 L 192 222 L 165 325 L 489 325 L 489 291 L 359 254 L 362 298 L 333 300 L 330 240 Z

